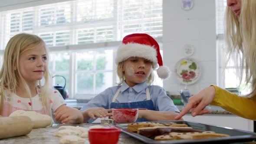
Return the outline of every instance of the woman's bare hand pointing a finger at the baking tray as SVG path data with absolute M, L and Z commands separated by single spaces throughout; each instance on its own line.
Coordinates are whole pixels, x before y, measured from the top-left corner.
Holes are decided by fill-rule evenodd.
M 205 110 L 204 108 L 213 101 L 214 97 L 215 97 L 215 88 L 213 86 L 204 88 L 198 94 L 193 95 L 188 99 L 189 102 L 187 103 L 186 107 L 174 119 L 175 120 L 180 119 L 188 111 L 191 111 L 191 115 L 193 117 L 197 115 L 208 114 L 210 111 Z

